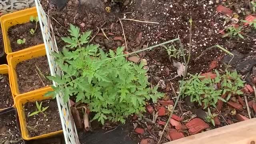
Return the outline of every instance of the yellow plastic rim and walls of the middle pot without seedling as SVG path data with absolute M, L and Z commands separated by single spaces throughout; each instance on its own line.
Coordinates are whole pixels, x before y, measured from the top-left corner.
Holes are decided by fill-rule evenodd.
M 30 60 L 32 58 L 37 58 L 45 55 L 46 55 L 46 51 L 45 51 L 44 44 L 33 46 L 18 52 L 12 52 L 7 55 L 7 62 L 9 64 L 9 68 L 10 68 L 9 70 L 10 70 L 10 76 L 11 76 L 11 82 L 12 82 L 12 92 L 15 96 L 18 96 L 20 94 L 19 86 L 18 86 L 18 78 L 16 73 L 17 64 L 25 60 Z M 33 92 L 33 91 L 30 91 L 30 92 Z

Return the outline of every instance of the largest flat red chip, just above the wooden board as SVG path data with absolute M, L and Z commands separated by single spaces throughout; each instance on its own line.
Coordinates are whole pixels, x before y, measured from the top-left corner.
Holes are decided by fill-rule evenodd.
M 194 118 L 190 122 L 186 123 L 186 127 L 188 128 L 188 131 L 191 134 L 197 134 L 197 133 L 201 132 L 202 130 L 209 128 L 209 125 L 206 124 L 200 118 Z

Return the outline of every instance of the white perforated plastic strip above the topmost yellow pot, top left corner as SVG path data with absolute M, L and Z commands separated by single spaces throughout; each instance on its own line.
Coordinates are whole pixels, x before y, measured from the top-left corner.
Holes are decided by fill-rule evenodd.
M 33 6 L 34 0 L 0 0 L 0 13 L 6 14 Z

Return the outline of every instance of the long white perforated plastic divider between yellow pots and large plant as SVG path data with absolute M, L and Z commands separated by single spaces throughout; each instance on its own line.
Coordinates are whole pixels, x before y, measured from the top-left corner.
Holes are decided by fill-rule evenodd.
M 40 27 L 42 30 L 42 35 L 44 38 L 44 44 L 45 44 L 46 54 L 48 57 L 51 75 L 62 76 L 63 73 L 60 70 L 60 68 L 58 68 L 58 65 L 54 61 L 54 56 L 52 55 L 53 52 L 58 52 L 58 46 L 56 44 L 56 40 L 54 37 L 52 24 L 50 22 L 50 19 L 44 12 L 40 4 L 40 0 L 35 0 L 35 3 L 36 3 L 37 12 L 38 12 Z M 53 82 L 53 85 L 57 86 L 58 84 Z M 70 103 L 64 102 L 62 92 L 57 94 L 56 100 L 58 102 L 60 119 L 62 122 L 62 129 L 63 129 L 66 144 L 80 144 L 78 140 L 76 126 L 70 110 Z

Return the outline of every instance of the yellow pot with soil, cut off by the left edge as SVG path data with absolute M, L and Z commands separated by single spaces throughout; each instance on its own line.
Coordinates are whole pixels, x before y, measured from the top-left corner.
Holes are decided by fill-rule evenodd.
M 0 111 L 14 106 L 14 95 L 11 88 L 9 67 L 6 64 L 0 65 Z

